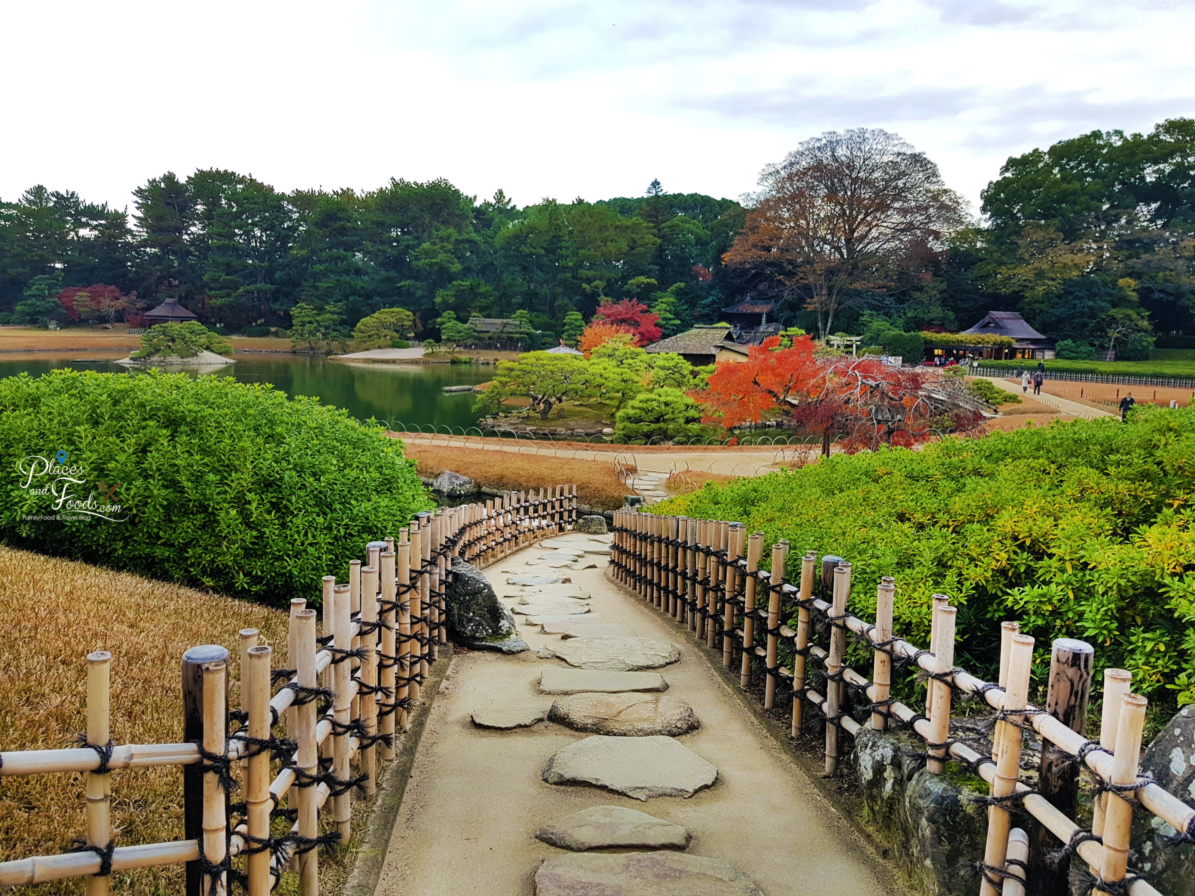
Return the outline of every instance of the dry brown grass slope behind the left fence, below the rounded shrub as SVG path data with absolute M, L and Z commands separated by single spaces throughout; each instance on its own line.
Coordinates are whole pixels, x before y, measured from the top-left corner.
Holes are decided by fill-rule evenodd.
M 259 628 L 265 642 L 286 644 L 280 610 L 82 563 L 0 547 L 0 582 L 2 750 L 75 745 L 75 734 L 86 729 L 90 651 L 112 653 L 112 739 L 178 743 L 184 651 L 197 644 L 229 649 L 237 706 L 238 631 Z M 118 845 L 183 839 L 180 768 L 114 772 L 112 793 Z M 67 848 L 86 831 L 84 802 L 82 774 L 0 778 L 0 859 Z M 182 892 L 183 866 L 118 872 L 112 884 L 137 896 Z M 17 890 L 78 894 L 82 880 Z

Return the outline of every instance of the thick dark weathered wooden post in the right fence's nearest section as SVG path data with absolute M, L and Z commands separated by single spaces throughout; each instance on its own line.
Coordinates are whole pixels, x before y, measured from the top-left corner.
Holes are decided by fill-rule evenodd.
M 1090 644 L 1071 638 L 1055 639 L 1050 649 L 1044 710 L 1080 735 L 1087 723 L 1095 653 Z M 1070 753 L 1047 739 L 1042 741 L 1037 792 L 1067 818 L 1076 816 L 1079 809 L 1079 768 Z M 1028 890 L 1032 896 L 1065 896 L 1070 889 L 1070 857 L 1064 857 L 1060 861 L 1047 860 L 1047 853 L 1061 846 L 1062 842 L 1044 824 L 1035 827 L 1029 847 L 1028 878 Z

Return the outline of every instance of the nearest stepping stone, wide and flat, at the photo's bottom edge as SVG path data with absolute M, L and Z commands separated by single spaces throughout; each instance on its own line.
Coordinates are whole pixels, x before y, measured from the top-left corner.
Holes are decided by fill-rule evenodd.
M 566 853 L 535 872 L 535 896 L 764 896 L 734 865 L 678 852 Z

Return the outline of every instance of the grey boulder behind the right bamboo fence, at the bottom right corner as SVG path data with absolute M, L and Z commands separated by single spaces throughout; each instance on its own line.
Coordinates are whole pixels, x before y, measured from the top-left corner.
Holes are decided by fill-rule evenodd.
M 1184 803 L 1195 802 L 1195 706 L 1184 706 L 1153 738 L 1141 774 Z M 1175 829 L 1152 812 L 1133 812 L 1133 848 L 1145 877 L 1172 896 L 1195 896 L 1195 843 L 1177 843 Z

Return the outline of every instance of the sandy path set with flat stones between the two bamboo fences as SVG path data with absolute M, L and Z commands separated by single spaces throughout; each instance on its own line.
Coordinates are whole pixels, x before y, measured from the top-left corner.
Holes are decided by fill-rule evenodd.
M 527 566 L 582 544 L 596 569 Z M 528 651 L 453 657 L 378 896 L 903 894 L 695 649 L 607 578 L 608 544 L 570 534 L 485 570 L 513 609 L 570 600 L 589 613 L 520 613 Z M 569 581 L 511 581 L 543 572 Z M 546 657 L 578 642 L 663 664 Z

